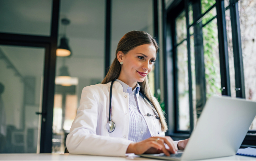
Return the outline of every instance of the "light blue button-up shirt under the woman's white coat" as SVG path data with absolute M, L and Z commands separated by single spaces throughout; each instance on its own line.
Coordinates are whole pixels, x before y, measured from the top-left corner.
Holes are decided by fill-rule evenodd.
M 132 91 L 132 87 L 129 87 L 126 83 L 116 79 L 124 89 L 124 92 L 129 93 L 129 137 L 128 139 L 134 142 L 142 141 L 151 137 L 148 125 L 140 113 L 138 106 L 138 100 L 136 94 L 140 91 L 140 85 L 137 83 L 136 87 Z M 143 107 L 140 107 L 143 108 Z

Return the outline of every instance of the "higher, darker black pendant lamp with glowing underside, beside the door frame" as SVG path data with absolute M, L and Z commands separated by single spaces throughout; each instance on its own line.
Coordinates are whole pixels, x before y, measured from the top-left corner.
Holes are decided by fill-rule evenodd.
M 60 46 L 58 46 L 58 49 L 56 50 L 56 56 L 71 56 L 72 52 L 68 45 L 68 39 L 66 38 L 66 26 L 70 24 L 70 20 L 62 18 L 61 23 L 64 26 L 64 33 L 60 39 Z

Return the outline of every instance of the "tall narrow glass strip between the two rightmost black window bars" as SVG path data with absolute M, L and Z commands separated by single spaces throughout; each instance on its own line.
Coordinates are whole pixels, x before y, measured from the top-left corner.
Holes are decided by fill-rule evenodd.
M 225 11 L 226 15 L 226 30 L 228 38 L 228 64 L 229 64 L 229 76 L 230 76 L 230 88 L 231 97 L 236 97 L 236 81 L 235 81 L 235 66 L 234 66 L 234 53 L 233 53 L 233 42 L 232 42 L 232 28 L 230 20 L 230 9 Z

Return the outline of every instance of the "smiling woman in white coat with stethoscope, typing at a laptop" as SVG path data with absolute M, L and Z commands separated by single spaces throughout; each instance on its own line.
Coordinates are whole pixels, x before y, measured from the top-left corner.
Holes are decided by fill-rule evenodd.
M 69 153 L 125 156 L 163 152 L 169 156 L 178 148 L 184 149 L 188 140 L 164 137 L 166 121 L 149 88 L 147 75 L 157 50 L 156 40 L 146 32 L 131 31 L 121 38 L 102 83 L 82 90 L 80 107 L 66 139 Z M 110 106 L 114 131 L 109 129 Z

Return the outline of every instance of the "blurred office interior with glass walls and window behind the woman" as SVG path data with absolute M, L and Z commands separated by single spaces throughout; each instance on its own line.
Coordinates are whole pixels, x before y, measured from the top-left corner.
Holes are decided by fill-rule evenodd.
M 160 47 L 148 78 L 166 135 L 189 138 L 212 95 L 256 101 L 255 15 L 255 0 L 0 0 L 0 153 L 64 153 L 83 87 L 132 30 Z

